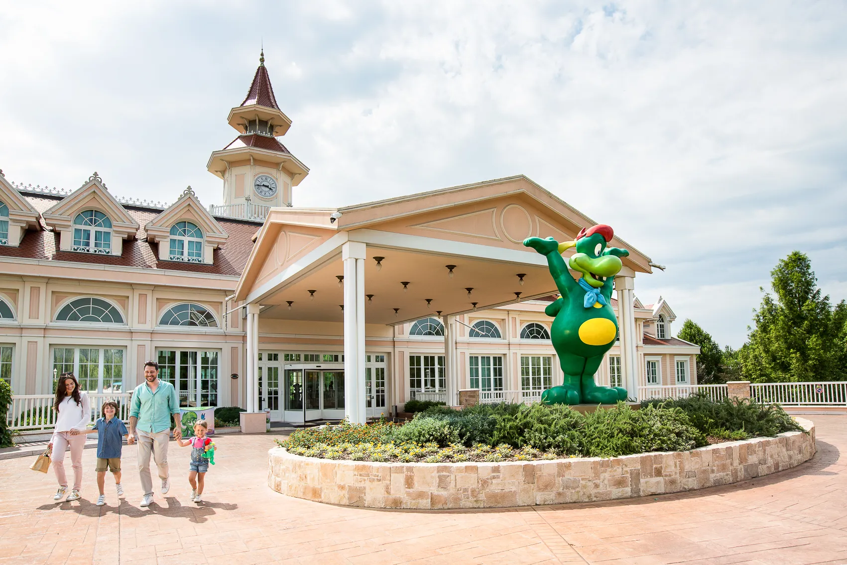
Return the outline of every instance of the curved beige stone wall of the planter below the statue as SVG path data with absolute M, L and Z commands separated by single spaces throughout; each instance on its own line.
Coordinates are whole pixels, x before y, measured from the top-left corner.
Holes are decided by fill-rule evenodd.
M 365 463 L 268 451 L 268 485 L 311 501 L 374 508 L 490 508 L 606 501 L 728 485 L 792 468 L 815 454 L 808 434 L 693 451 L 510 463 Z

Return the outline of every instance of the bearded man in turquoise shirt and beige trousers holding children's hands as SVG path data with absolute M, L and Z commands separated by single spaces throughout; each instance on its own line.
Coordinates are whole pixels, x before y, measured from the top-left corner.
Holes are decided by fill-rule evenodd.
M 144 363 L 146 382 L 136 386 L 130 405 L 130 435 L 127 443 L 138 440 L 138 475 L 141 488 L 144 489 L 142 507 L 150 506 L 153 501 L 153 481 L 150 476 L 150 454 L 156 461 L 159 479 L 162 479 L 162 494 L 168 494 L 168 442 L 170 415 L 174 414 L 174 440 L 180 440 L 182 416 L 180 400 L 176 396 L 174 385 L 158 379 L 158 363 Z

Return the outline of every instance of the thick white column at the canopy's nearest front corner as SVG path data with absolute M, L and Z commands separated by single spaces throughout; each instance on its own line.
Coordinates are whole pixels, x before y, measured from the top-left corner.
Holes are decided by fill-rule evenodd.
M 360 319 L 358 307 L 361 304 L 364 311 L 364 259 L 365 244 L 358 241 L 348 241 L 341 246 L 341 259 L 344 261 L 344 415 L 352 423 L 363 423 L 365 419 L 364 410 L 360 411 L 364 404 L 364 385 L 360 388 L 359 368 L 361 367 L 361 382 L 364 382 L 364 312 L 361 318 L 361 341 L 360 341 Z M 362 283 L 360 287 L 357 269 L 357 260 L 362 260 Z M 359 363 L 359 352 L 363 352 L 362 361 Z

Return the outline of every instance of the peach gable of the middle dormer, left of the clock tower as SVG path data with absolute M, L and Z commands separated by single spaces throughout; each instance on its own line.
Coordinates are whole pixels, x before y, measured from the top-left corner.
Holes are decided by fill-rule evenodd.
M 135 237 L 138 223 L 102 183 L 97 173 L 92 174 L 80 188 L 71 192 L 42 214 L 47 225 L 53 228 L 68 228 L 77 213 L 95 209 L 106 214 L 112 221 L 113 230 L 126 239 Z

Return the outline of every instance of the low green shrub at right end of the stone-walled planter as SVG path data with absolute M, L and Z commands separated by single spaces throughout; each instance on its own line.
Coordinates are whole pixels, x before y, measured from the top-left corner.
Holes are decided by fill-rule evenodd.
M 735 438 L 745 439 L 803 431 L 777 404 L 760 404 L 748 399 L 724 398 L 714 402 L 705 393 L 699 393 L 687 398 L 644 401 L 641 406 L 679 408 L 701 434 L 722 439 L 730 439 L 726 434 L 733 432 L 743 432 L 743 438 L 739 438 L 739 434 Z

